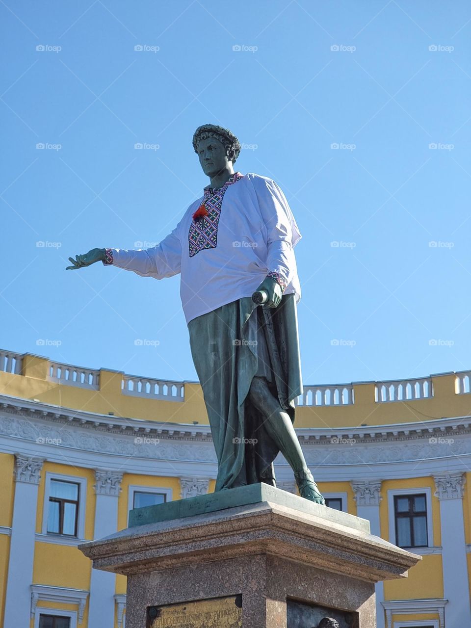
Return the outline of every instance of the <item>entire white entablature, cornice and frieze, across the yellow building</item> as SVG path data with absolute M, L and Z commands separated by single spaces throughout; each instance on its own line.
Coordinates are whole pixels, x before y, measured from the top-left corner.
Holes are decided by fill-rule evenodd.
M 406 477 L 411 470 L 420 477 L 445 468 L 463 471 L 467 460 L 471 462 L 470 416 L 361 431 L 301 428 L 296 433 L 318 479 L 324 475 L 341 479 L 347 469 L 349 480 L 386 479 L 392 472 Z M 175 463 L 183 477 L 215 477 L 217 470 L 208 425 L 111 417 L 4 395 L 0 396 L 0 439 L 6 452 L 55 462 L 66 458 L 89 468 L 116 471 L 125 459 L 132 461 L 133 471 L 128 472 L 149 473 L 152 468 L 154 475 L 174 475 Z M 281 457 L 275 464 L 286 467 Z M 287 467 L 286 471 L 279 474 L 281 482 L 291 477 Z

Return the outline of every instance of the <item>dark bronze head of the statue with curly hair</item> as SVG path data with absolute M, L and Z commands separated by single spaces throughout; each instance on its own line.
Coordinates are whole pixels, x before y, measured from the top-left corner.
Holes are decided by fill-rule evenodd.
M 205 175 L 216 176 L 220 171 L 232 172 L 232 165 L 241 152 L 241 144 L 236 136 L 216 124 L 198 126 L 193 135 L 193 148 L 198 155 Z

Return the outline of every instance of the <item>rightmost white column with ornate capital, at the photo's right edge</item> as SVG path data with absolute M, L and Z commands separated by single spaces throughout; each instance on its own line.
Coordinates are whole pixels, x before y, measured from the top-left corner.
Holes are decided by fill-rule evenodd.
M 440 499 L 441 561 L 443 564 L 443 597 L 445 626 L 471 626 L 468 567 L 463 521 L 463 485 L 461 472 L 433 476 L 435 495 Z

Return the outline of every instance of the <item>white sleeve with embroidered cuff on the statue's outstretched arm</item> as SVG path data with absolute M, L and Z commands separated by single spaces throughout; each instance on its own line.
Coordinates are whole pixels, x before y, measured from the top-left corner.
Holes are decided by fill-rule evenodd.
M 163 279 L 180 273 L 181 242 L 178 228 L 151 249 L 105 249 L 105 266 L 117 266 L 141 277 Z

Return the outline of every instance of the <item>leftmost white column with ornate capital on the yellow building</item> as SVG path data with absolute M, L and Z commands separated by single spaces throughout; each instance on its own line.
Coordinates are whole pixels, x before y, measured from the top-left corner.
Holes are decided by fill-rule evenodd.
M 15 455 L 14 505 L 5 600 L 5 625 L 29 626 L 35 560 L 38 484 L 44 460 Z

